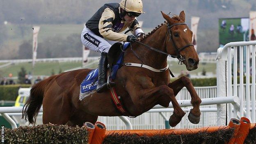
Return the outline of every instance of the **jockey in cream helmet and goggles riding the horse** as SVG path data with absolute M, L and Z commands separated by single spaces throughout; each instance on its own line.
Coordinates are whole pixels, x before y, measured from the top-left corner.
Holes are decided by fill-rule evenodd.
M 103 92 L 107 88 L 106 70 L 107 53 L 110 47 L 120 42 L 134 42 L 137 37 L 142 37 L 144 32 L 136 19 L 142 11 L 142 0 L 121 0 L 120 3 L 103 5 L 86 23 L 82 30 L 81 41 L 91 50 L 101 53 L 98 64 L 98 85 L 96 91 Z M 121 34 L 129 27 L 134 35 Z M 110 82 L 110 87 L 114 87 Z

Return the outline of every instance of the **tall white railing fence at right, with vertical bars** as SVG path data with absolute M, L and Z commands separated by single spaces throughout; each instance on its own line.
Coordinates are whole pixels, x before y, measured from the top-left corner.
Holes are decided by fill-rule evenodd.
M 242 41 L 228 43 L 217 50 L 217 96 L 239 97 L 238 105 L 228 105 L 228 119 L 225 115 L 226 105 L 218 105 L 218 125 L 224 125 L 238 116 L 251 118 L 251 122 L 255 123 L 255 49 L 256 41 Z M 245 88 L 238 87 L 238 76 L 240 85 L 243 85 L 246 76 Z

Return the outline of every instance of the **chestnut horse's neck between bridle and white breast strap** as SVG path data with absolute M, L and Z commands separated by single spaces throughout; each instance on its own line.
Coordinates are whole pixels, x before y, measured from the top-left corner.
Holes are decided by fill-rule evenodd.
M 161 50 L 166 53 L 165 38 L 167 33 L 167 26 L 163 25 L 158 28 L 153 34 L 149 35 L 142 43 Z M 154 67 L 155 69 L 162 69 L 167 65 L 167 55 L 150 50 L 141 44 L 134 45 L 135 52 L 143 60 L 144 64 Z

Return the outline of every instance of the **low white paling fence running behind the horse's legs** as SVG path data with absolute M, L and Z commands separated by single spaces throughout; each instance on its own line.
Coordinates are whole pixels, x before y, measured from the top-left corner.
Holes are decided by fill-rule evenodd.
M 213 87 L 195 87 L 197 93 L 201 98 L 216 98 L 217 97 L 217 88 L 216 86 Z M 183 88 L 180 93 L 176 96 L 178 101 L 181 101 L 181 105 L 187 105 L 183 102 L 184 99 L 190 100 L 190 94 L 187 89 Z M 210 101 L 213 101 L 210 99 Z M 187 101 L 190 104 L 190 101 Z M 214 103 L 214 102 L 212 102 Z M 202 126 L 216 126 L 217 125 L 217 106 L 216 105 L 201 105 L 201 119 L 199 124 L 195 125 L 188 121 L 187 114 L 189 113 L 191 107 L 183 107 L 183 110 L 187 112 L 185 117 L 183 117 L 181 123 L 174 128 L 197 128 Z M 160 107 L 156 107 L 160 108 Z M 158 112 L 155 112 L 158 111 Z M 166 112 L 168 111 L 168 112 Z M 169 119 L 169 116 L 172 114 L 173 109 L 153 109 L 149 112 L 146 112 L 136 118 L 128 118 L 130 123 L 133 126 L 133 129 L 159 129 L 165 128 L 165 122 Z M 4 111 L 2 111 L 4 112 Z M 11 111 L 9 111 L 11 112 Z M 1 113 L 1 107 L 0 107 Z M 21 126 L 27 125 L 24 119 L 21 119 L 21 116 L 17 114 L 15 115 L 16 122 L 19 123 Z M 12 117 L 13 118 L 13 117 Z M 118 130 L 118 129 L 126 129 L 126 124 L 119 118 L 119 117 L 99 117 L 98 121 L 105 123 L 108 130 Z M 42 123 L 42 116 L 39 114 L 37 119 L 37 124 Z

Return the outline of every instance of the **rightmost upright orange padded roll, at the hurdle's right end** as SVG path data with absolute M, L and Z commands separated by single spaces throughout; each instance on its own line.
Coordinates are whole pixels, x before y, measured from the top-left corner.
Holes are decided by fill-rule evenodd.
M 247 137 L 249 133 L 249 129 L 251 126 L 250 120 L 246 117 L 241 117 L 240 119 L 240 128 L 237 137 L 235 138 L 235 144 L 243 144 L 245 141 L 245 138 Z

